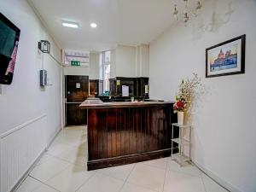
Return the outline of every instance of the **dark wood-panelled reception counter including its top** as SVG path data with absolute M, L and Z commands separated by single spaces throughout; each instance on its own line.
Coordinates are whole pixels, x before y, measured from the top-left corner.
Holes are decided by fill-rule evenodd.
M 85 100 L 88 110 L 88 170 L 171 155 L 173 102 Z

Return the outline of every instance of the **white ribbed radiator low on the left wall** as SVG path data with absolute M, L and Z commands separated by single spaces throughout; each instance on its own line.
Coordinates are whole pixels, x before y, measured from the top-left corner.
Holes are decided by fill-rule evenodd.
M 0 192 L 9 192 L 47 146 L 46 115 L 0 136 Z

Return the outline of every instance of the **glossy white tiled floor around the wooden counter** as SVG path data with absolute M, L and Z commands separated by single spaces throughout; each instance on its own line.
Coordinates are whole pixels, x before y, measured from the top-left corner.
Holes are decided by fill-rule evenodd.
M 65 128 L 17 192 L 224 192 L 195 166 L 170 157 L 86 171 L 83 126 Z

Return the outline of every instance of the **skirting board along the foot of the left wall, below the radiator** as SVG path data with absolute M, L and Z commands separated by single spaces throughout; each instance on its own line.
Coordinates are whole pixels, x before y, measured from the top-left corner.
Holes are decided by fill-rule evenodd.
M 35 166 L 37 166 L 38 161 L 42 158 L 44 153 L 47 151 L 47 148 L 49 148 L 50 144 L 54 142 L 55 137 L 57 137 L 57 135 L 59 134 L 60 131 L 61 131 L 61 129 L 55 133 L 55 136 L 51 139 L 51 141 L 47 145 L 47 147 L 44 148 L 44 150 L 39 154 L 38 158 L 32 163 L 32 165 L 28 168 L 28 170 L 26 172 L 24 172 L 24 174 L 20 177 L 19 181 L 15 184 L 15 186 L 9 192 L 15 192 L 20 187 L 20 184 L 23 183 L 23 181 L 26 179 L 26 177 L 29 175 L 29 173 L 32 172 L 32 169 Z

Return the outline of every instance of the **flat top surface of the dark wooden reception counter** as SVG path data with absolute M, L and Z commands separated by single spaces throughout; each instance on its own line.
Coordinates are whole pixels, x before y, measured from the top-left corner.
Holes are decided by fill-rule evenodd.
M 172 104 L 171 101 L 157 101 L 149 100 L 147 102 L 102 102 L 101 99 L 95 97 L 89 97 L 80 104 L 80 108 L 140 108 Z

